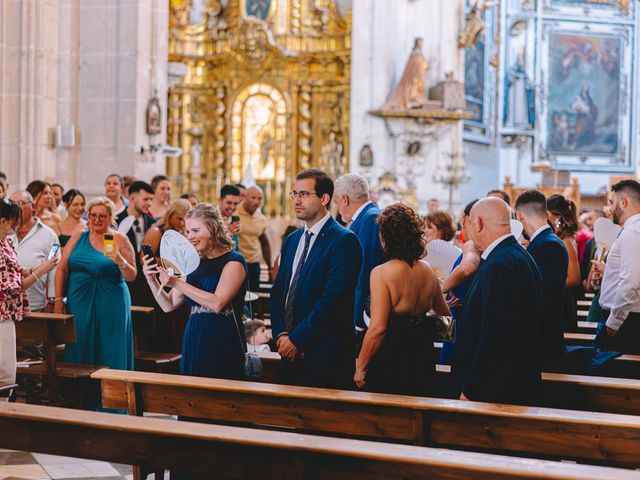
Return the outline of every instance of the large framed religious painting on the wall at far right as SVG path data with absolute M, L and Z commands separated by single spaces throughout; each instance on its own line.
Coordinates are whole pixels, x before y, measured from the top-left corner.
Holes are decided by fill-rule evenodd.
M 630 171 L 633 30 L 546 21 L 542 26 L 538 161 L 574 171 Z

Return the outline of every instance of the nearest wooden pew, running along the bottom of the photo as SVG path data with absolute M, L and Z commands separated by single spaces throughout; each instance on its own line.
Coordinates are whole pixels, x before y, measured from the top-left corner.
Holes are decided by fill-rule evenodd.
M 0 404 L 0 447 L 217 478 L 639 479 L 640 472 L 296 433 Z

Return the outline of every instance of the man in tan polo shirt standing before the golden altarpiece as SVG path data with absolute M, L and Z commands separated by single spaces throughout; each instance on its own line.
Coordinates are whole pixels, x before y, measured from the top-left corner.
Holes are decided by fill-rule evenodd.
M 269 281 L 273 281 L 271 265 L 271 245 L 267 237 L 267 217 L 260 211 L 264 194 L 257 185 L 245 192 L 244 201 L 238 206 L 240 217 L 239 249 L 247 261 L 249 269 L 249 290 L 257 291 L 260 286 L 260 262 L 262 259 L 269 269 Z

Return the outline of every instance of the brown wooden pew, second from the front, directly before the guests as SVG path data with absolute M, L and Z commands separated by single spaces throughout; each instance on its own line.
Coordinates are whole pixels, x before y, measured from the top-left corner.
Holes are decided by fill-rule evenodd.
M 102 370 L 106 407 L 640 468 L 640 417 Z

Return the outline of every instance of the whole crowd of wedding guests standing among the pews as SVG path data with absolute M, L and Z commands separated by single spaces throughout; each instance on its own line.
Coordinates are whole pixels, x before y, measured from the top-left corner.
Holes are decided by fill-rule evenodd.
M 363 177 L 334 182 L 313 169 L 289 196 L 298 225 L 272 258 L 255 185 L 225 185 L 212 205 L 193 194 L 172 200 L 163 175 L 147 183 L 113 174 L 87 201 L 41 180 L 12 190 L 0 172 L 0 385 L 15 381 L 14 322 L 28 311 L 75 315 L 66 361 L 133 369 L 132 304 L 155 305 L 160 323 L 182 322 L 181 373 L 217 378 L 243 378 L 246 353 L 271 343 L 290 384 L 429 395 L 442 362 L 455 398 L 528 404 L 542 371 L 594 373 L 621 352 L 640 353 L 636 180 L 613 185 L 605 208 L 580 217 L 571 200 L 536 190 L 513 204 L 490 191 L 458 219 L 435 199 L 424 217 L 402 203 L 381 211 Z M 593 236 L 601 217 L 622 227 L 607 252 Z M 192 273 L 165 269 L 168 231 L 199 254 Z M 445 275 L 426 254 L 436 241 L 459 248 Z M 271 335 L 245 302 L 261 288 L 261 264 Z M 592 347 L 568 347 L 584 291 L 596 293 L 598 333 Z M 449 316 L 455 339 L 438 358 L 440 317 Z

